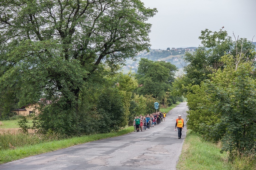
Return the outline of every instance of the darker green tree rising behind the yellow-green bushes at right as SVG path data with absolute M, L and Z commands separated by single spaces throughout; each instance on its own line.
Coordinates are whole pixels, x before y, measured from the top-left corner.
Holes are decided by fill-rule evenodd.
M 193 54 L 186 53 L 184 60 L 187 65 L 184 71 L 187 73 L 173 84 L 173 93 L 176 95 L 188 94 L 189 87 L 200 85 L 204 80 L 209 79 L 208 75 L 223 69 L 225 64 L 221 62 L 221 57 L 227 54 L 233 56 L 236 63 L 240 61 L 252 61 L 255 64 L 255 46 L 246 38 L 240 38 L 232 41 L 227 31 L 218 32 L 205 29 L 199 36 L 202 46 Z

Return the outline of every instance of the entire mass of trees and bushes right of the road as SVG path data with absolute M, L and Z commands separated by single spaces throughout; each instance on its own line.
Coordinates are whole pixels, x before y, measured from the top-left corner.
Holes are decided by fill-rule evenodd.
M 255 46 L 232 41 L 226 31 L 201 32 L 202 47 L 186 53 L 186 75 L 173 83 L 171 95 L 187 97 L 187 128 L 215 142 L 222 152 L 255 154 Z

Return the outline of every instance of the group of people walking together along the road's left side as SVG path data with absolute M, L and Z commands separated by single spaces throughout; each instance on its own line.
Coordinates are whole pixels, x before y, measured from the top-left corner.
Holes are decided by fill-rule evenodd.
M 156 112 L 153 114 L 147 114 L 145 116 L 137 116 L 134 118 L 133 126 L 134 132 L 143 132 L 145 130 L 150 129 L 150 127 L 154 127 L 154 125 L 160 124 L 162 121 L 165 121 L 166 113 L 165 112 Z

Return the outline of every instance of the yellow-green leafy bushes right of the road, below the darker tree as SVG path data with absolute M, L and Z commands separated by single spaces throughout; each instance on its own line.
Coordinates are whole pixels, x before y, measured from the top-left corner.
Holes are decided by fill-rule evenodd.
M 255 154 L 256 81 L 252 62 L 238 66 L 233 56 L 224 56 L 224 69 L 209 75 L 211 81 L 192 86 L 188 98 L 188 128 L 214 141 L 230 156 Z

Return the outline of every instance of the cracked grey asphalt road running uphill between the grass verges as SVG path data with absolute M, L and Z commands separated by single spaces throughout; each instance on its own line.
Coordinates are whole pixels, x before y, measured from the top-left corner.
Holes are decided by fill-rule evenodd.
M 1 170 L 150 170 L 176 169 L 186 137 L 186 103 L 168 114 L 166 121 L 144 132 L 84 143 L 0 165 Z M 182 139 L 174 131 L 181 114 L 185 126 Z

